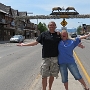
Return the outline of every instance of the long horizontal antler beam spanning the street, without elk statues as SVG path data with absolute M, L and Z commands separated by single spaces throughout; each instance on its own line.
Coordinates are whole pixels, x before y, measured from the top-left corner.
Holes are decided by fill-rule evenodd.
M 73 18 L 90 18 L 90 14 L 81 15 L 35 15 L 35 16 L 17 16 L 15 19 L 73 19 Z

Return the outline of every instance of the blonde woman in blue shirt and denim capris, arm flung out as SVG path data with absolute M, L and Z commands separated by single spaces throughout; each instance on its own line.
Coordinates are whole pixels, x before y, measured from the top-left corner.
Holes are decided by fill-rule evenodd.
M 75 59 L 73 57 L 74 48 L 81 42 L 81 39 L 84 39 L 88 36 L 90 36 L 90 34 L 76 37 L 75 40 L 72 40 L 68 38 L 68 33 L 66 30 L 62 30 L 61 32 L 62 40 L 59 42 L 58 45 L 58 63 L 62 82 L 64 83 L 66 90 L 68 90 L 68 69 L 74 76 L 74 78 L 84 86 L 84 90 L 90 90 L 85 84 L 82 76 L 80 75 L 77 65 L 75 63 Z

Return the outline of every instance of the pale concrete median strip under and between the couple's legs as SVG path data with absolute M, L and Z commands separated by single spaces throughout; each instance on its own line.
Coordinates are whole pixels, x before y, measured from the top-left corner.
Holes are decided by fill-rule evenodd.
M 74 79 L 74 77 L 70 74 L 70 72 L 69 72 L 68 80 L 69 80 L 68 82 L 69 90 L 84 90 L 82 85 L 77 80 Z M 32 88 L 30 88 L 29 90 L 42 90 L 41 88 L 42 88 L 42 82 L 41 82 L 41 76 L 40 76 L 39 80 L 37 80 L 37 82 L 34 83 Z M 48 86 L 47 86 L 47 90 L 48 90 Z M 65 90 L 64 85 L 61 81 L 60 74 L 57 79 L 55 78 L 53 82 L 52 90 Z

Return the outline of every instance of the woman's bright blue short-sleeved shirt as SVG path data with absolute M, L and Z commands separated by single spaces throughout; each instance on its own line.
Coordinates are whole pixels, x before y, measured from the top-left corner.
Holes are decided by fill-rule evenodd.
M 61 40 L 58 45 L 58 63 L 75 63 L 73 57 L 73 49 L 81 42 L 80 38 L 75 38 L 75 40 Z

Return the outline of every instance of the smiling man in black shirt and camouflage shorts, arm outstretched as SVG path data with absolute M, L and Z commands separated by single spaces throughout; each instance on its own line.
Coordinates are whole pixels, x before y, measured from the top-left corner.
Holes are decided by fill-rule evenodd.
M 42 45 L 42 60 L 41 75 L 42 75 L 42 90 L 46 90 L 47 77 L 49 77 L 49 90 L 51 90 L 54 77 L 58 77 L 58 43 L 61 40 L 60 34 L 55 32 L 55 22 L 49 22 L 49 30 L 41 33 L 36 41 L 31 43 L 21 43 L 17 46 L 34 46 L 40 43 Z

